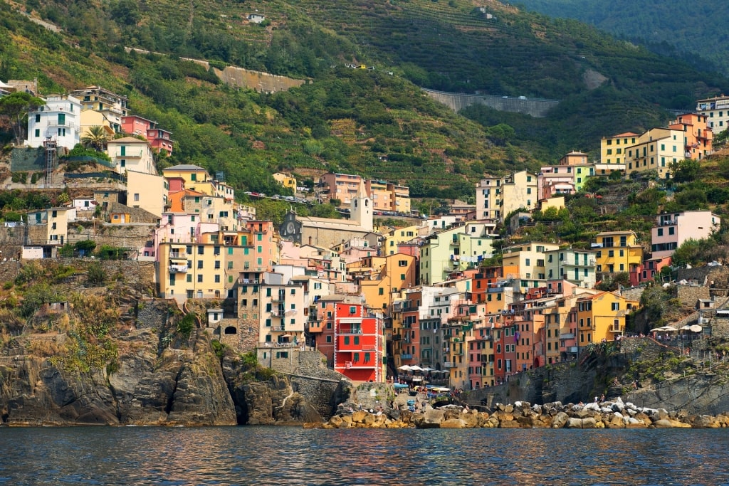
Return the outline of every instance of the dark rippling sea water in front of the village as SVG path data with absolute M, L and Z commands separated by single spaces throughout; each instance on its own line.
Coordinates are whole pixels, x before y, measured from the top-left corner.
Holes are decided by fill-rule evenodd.
M 729 485 L 721 429 L 0 428 L 0 485 Z

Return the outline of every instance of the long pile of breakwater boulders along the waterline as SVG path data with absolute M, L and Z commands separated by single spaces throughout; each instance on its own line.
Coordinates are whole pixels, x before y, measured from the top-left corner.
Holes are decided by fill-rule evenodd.
M 449 405 L 425 412 L 341 412 L 326 423 L 304 428 L 722 428 L 729 415 L 688 415 L 665 409 L 636 407 L 618 398 L 590 404 L 559 401 L 532 405 L 526 401 L 496 404 L 491 412 Z

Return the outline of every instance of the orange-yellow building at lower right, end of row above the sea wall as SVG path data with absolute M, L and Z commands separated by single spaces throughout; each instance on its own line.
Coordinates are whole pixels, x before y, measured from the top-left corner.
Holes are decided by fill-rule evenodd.
M 577 299 L 577 346 L 592 342 L 613 341 L 625 332 L 625 316 L 639 307 L 637 300 L 628 300 L 612 292 Z

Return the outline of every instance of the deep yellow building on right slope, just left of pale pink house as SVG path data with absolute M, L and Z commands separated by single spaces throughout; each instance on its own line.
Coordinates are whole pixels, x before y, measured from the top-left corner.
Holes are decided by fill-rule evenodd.
M 597 273 L 627 273 L 643 263 L 643 247 L 633 231 L 604 231 L 595 236 Z

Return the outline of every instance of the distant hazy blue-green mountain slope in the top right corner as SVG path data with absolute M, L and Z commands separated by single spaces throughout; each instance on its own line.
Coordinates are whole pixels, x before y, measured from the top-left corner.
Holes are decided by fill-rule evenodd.
M 729 4 L 649 0 L 521 0 L 527 9 L 589 23 L 654 52 L 684 58 L 703 70 L 729 74 Z

